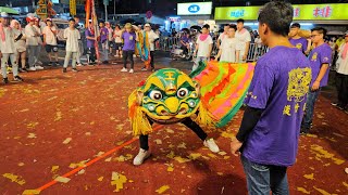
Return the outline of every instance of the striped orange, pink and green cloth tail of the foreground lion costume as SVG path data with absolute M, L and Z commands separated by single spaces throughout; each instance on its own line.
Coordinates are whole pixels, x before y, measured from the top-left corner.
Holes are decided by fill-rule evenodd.
M 190 74 L 199 82 L 201 102 L 223 127 L 243 105 L 253 76 L 254 63 L 208 62 Z

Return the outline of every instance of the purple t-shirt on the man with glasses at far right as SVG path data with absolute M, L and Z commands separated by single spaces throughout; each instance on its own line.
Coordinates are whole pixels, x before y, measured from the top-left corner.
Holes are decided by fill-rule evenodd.
M 311 86 L 312 86 L 319 75 L 319 72 L 322 65 L 323 64 L 331 65 L 332 49 L 327 43 L 323 43 L 322 46 L 314 48 L 308 57 L 311 61 L 311 68 L 312 68 Z M 330 68 L 326 69 L 326 73 L 323 79 L 320 81 L 320 87 L 327 86 L 328 72 L 330 72 Z

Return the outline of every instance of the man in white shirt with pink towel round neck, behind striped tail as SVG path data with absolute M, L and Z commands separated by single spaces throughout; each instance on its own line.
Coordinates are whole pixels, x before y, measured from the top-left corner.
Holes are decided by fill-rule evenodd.
M 192 70 L 197 69 L 200 62 L 209 61 L 211 55 L 211 50 L 213 48 L 213 40 L 209 35 L 210 26 L 206 24 L 202 27 L 202 34 L 198 36 L 196 42 L 196 51 L 194 56 L 197 54 Z

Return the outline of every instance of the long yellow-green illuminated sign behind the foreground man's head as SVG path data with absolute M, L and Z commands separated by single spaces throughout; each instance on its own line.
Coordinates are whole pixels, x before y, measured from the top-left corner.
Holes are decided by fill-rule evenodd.
M 216 21 L 258 20 L 262 6 L 215 8 Z M 294 4 L 294 21 L 345 21 L 348 20 L 348 3 Z

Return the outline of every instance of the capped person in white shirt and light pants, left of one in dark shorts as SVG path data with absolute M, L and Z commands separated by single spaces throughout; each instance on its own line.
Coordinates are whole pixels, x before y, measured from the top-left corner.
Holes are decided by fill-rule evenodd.
M 35 63 L 39 56 L 39 43 L 38 38 L 40 37 L 39 31 L 34 27 L 35 17 L 27 17 L 28 24 L 25 26 L 24 32 L 26 35 L 26 46 L 28 51 L 28 63 L 29 70 L 35 72 L 36 69 L 44 69 L 41 66 L 36 66 Z

